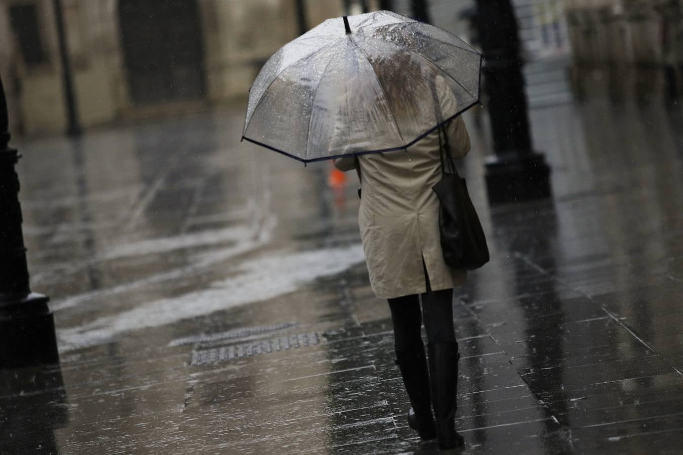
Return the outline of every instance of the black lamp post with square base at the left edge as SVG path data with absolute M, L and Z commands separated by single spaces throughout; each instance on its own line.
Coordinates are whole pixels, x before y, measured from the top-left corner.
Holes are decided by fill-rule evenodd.
M 59 362 L 49 299 L 29 287 L 14 170 L 19 154 L 9 145 L 8 117 L 0 79 L 0 369 Z

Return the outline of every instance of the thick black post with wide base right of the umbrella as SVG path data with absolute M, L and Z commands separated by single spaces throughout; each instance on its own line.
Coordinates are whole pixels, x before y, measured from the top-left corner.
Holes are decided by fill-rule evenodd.
M 490 203 L 550 196 L 550 167 L 531 144 L 521 43 L 510 0 L 477 0 L 484 91 L 495 155 L 486 164 Z

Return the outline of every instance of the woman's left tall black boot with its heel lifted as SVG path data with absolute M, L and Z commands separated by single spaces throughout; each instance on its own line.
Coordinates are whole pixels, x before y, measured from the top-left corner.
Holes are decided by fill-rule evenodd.
M 420 439 L 434 439 L 436 428 L 432 416 L 429 372 L 424 346 L 421 345 L 412 351 L 395 349 L 395 353 L 395 363 L 401 372 L 410 404 L 413 405 L 408 411 L 408 425 L 417 431 Z

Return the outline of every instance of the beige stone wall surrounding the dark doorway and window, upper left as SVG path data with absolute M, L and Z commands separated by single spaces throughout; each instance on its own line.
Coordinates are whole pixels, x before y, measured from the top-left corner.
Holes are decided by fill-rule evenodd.
M 204 48 L 201 99 L 136 105 L 122 48 L 118 0 L 62 0 L 74 89 L 83 127 L 154 118 L 245 97 L 261 65 L 296 38 L 295 0 L 196 0 Z M 339 16 L 343 0 L 307 0 L 309 27 Z M 27 65 L 10 25 L 10 8 L 35 5 L 46 62 Z M 0 0 L 0 74 L 15 134 L 66 128 L 53 0 Z

